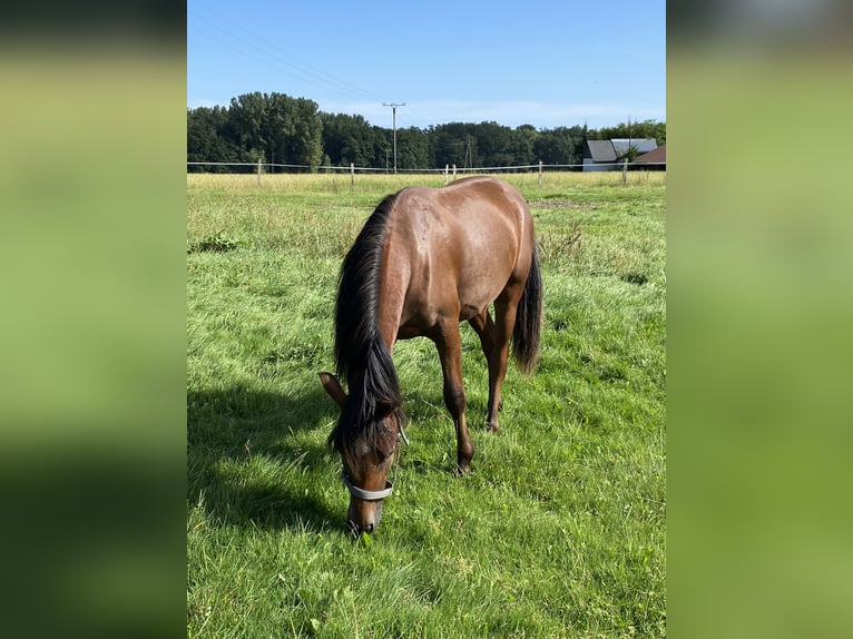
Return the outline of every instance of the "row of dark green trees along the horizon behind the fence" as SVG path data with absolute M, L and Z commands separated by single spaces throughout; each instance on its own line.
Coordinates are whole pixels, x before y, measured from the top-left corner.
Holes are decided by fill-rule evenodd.
M 666 122 L 646 120 L 615 127 L 585 126 L 536 129 L 509 128 L 497 122 L 451 122 L 398 128 L 400 169 L 460 169 L 580 164 L 585 141 L 611 138 L 655 138 L 666 144 Z M 187 109 L 188 163 L 257 163 L 312 167 L 393 169 L 393 131 L 369 124 L 362 116 L 325 114 L 313 100 L 284 94 L 246 94 L 228 107 Z M 193 166 L 190 171 L 227 171 L 252 167 Z M 284 170 L 276 169 L 273 170 Z M 293 170 L 293 169 L 287 169 Z

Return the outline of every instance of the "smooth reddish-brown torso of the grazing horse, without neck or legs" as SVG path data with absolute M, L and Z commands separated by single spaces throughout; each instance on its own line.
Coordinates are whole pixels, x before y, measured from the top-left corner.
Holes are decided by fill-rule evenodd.
M 468 320 L 527 278 L 532 222 L 521 195 L 489 177 L 398 194 L 388 264 L 409 278 L 403 324 Z

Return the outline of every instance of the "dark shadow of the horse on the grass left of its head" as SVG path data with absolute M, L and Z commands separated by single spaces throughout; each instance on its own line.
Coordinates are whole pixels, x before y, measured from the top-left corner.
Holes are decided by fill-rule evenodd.
M 188 508 L 220 525 L 345 532 L 345 510 L 322 490 L 336 481 L 336 464 L 324 439 L 316 443 L 337 409 L 316 386 L 301 396 L 239 385 L 189 391 Z

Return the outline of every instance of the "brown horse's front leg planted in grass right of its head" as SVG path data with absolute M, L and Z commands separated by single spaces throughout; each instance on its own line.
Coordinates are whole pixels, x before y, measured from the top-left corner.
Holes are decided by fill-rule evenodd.
M 462 383 L 462 342 L 459 324 L 445 322 L 439 326 L 433 337 L 441 358 L 441 372 L 444 376 L 444 405 L 453 417 L 457 427 L 457 468 L 462 474 L 471 470 L 474 445 L 465 423 L 465 390 Z

